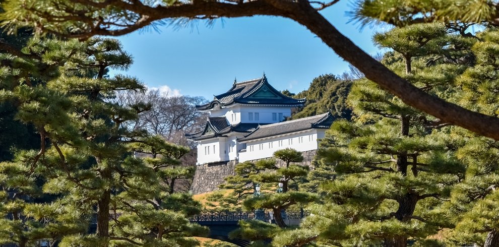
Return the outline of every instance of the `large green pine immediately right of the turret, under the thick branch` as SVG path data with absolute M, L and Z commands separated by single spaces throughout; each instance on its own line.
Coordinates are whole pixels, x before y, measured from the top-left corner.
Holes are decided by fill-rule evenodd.
M 441 24 L 419 24 L 375 35 L 395 50 L 384 62 L 429 93 L 452 96 L 454 79 L 466 69 L 452 63 L 470 53 L 474 40 L 447 35 Z M 427 65 L 428 60 L 434 64 Z M 405 105 L 372 82 L 359 80 L 348 96 L 356 117 L 337 120 L 329 132 L 332 147 L 322 162 L 337 177 L 322 185 L 324 205 L 315 205 L 300 231 L 325 244 L 406 246 L 441 227 L 433 209 L 464 177 L 455 158 L 461 139 L 447 135 L 449 124 Z M 314 229 L 307 233 L 307 230 Z M 301 238 L 288 242 L 301 242 Z

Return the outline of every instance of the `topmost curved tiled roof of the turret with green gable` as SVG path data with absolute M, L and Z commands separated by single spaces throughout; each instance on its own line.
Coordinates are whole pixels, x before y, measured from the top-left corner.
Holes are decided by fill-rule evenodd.
M 233 103 L 301 106 L 305 103 L 305 99 L 294 99 L 283 95 L 268 83 L 264 74 L 262 78 L 234 82 L 227 92 L 215 95 L 211 102 L 197 105 L 196 108 L 209 110 L 217 104 L 226 106 Z

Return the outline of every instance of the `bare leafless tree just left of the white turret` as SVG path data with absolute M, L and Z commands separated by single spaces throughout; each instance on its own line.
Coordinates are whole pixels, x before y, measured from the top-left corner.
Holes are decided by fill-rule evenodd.
M 175 178 L 169 179 L 171 192 L 189 191 L 193 176 L 194 164 L 197 161 L 196 144 L 185 138 L 186 133 L 201 131 L 205 126 L 207 113 L 200 112 L 196 105 L 206 103 L 203 97 L 170 96 L 159 90 L 147 92 L 116 92 L 114 102 L 120 105 L 134 105 L 146 102 L 149 110 L 143 111 L 135 120 L 128 121 L 132 130 L 146 130 L 150 134 L 162 136 L 165 140 L 178 145 L 189 146 L 191 151 L 180 158 L 181 166 Z M 150 154 L 141 153 L 140 156 Z

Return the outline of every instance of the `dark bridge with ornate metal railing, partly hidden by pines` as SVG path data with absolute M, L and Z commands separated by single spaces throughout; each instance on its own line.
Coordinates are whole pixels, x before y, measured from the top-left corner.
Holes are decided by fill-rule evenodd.
M 287 225 L 298 225 L 309 212 L 290 211 L 283 214 L 283 219 Z M 247 246 L 250 241 L 244 239 L 231 239 L 229 232 L 239 228 L 239 220 L 262 220 L 275 223 L 269 212 L 240 212 L 240 211 L 221 211 L 221 212 L 202 212 L 191 218 L 191 222 L 198 223 L 210 228 L 208 238 L 219 239 L 233 243 L 237 246 Z

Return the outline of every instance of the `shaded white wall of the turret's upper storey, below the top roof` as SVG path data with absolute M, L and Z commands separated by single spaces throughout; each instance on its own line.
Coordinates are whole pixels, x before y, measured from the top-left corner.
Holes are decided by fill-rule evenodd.
M 240 121 L 241 122 L 259 122 L 259 123 L 274 123 L 284 120 L 284 117 L 291 115 L 291 108 L 288 106 L 251 106 L 241 105 L 240 108 Z M 248 113 L 253 113 L 253 120 L 249 120 Z M 255 113 L 259 113 L 259 119 L 256 119 Z M 277 119 L 274 120 L 272 113 L 276 113 Z M 282 113 L 282 119 L 279 118 L 279 113 Z

